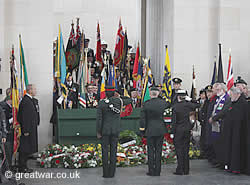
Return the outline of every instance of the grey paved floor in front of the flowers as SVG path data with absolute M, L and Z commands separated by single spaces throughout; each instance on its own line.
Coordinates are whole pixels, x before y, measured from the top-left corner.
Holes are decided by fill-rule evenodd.
M 80 178 L 58 179 L 58 178 L 22 178 L 20 182 L 26 185 L 250 185 L 250 176 L 232 175 L 222 170 L 211 168 L 206 160 L 192 160 L 191 171 L 188 176 L 175 176 L 172 172 L 175 170 L 175 164 L 162 166 L 160 177 L 146 176 L 147 166 L 117 168 L 116 176 L 113 179 L 102 178 L 102 168 L 89 169 L 42 169 L 36 167 L 34 161 L 30 161 L 30 166 L 37 172 L 48 173 L 63 172 L 68 177 L 78 172 Z

